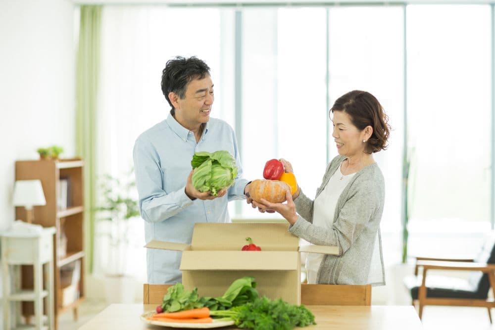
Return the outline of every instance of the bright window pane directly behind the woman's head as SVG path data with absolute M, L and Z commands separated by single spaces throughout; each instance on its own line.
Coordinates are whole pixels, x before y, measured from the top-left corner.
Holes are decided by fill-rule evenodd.
M 330 107 L 352 90 L 373 94 L 390 117 L 389 148 L 373 155 L 385 177 L 383 231 L 400 227 L 404 113 L 402 6 L 335 7 L 329 10 Z M 329 135 L 330 158 L 337 148 Z

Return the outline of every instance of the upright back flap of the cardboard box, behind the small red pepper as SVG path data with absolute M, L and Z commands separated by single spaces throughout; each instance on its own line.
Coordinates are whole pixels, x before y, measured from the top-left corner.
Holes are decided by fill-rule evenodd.
M 297 251 L 299 238 L 289 233 L 288 227 L 288 223 L 196 223 L 191 249 L 239 251 L 247 244 L 246 237 L 251 237 L 263 251 Z

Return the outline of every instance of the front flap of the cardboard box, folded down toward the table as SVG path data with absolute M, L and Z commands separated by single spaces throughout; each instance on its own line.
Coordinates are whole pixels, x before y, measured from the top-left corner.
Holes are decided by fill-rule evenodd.
M 297 251 L 184 251 L 181 271 L 297 270 Z

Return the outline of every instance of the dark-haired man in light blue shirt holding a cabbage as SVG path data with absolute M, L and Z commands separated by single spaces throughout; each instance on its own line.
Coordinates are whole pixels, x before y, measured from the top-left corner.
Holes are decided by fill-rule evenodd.
M 210 68 L 196 58 L 169 60 L 161 78 L 163 95 L 172 107 L 164 121 L 136 140 L 134 166 L 145 238 L 191 243 L 197 222 L 230 222 L 227 202 L 246 198 L 248 182 L 236 135 L 223 120 L 210 118 L 213 82 Z M 192 184 L 191 159 L 197 151 L 227 150 L 236 159 L 238 177 L 218 196 L 200 192 Z M 248 198 L 247 202 L 250 202 Z M 177 283 L 181 252 L 147 250 L 148 283 Z

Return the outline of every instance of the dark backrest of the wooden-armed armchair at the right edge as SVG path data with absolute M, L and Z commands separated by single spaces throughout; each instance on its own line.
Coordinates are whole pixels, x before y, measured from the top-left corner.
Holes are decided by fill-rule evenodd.
M 485 237 L 485 242 L 478 253 L 475 262 L 495 264 L 495 232 L 492 231 Z M 490 289 L 490 281 L 488 280 L 488 274 L 482 272 L 472 272 L 469 276 L 469 284 L 473 288 L 477 288 L 477 295 L 486 299 L 488 297 L 488 290 Z

